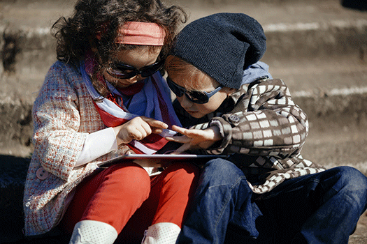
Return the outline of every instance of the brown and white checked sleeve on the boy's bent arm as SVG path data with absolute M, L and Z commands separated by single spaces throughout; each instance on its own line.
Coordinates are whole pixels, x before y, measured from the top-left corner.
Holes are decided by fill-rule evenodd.
M 213 118 L 224 139 L 208 153 L 243 153 L 288 158 L 301 151 L 308 135 L 306 114 L 294 104 L 281 79 L 250 86 L 228 114 Z

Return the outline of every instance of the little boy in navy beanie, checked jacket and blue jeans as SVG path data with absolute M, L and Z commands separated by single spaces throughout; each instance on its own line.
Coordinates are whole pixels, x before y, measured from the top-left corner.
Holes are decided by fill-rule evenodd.
M 266 73 L 265 50 L 256 20 L 219 13 L 185 26 L 166 60 L 176 112 L 192 126 L 167 139 L 178 152 L 230 155 L 203 166 L 177 243 L 347 243 L 366 211 L 366 176 L 304 160 L 307 116 L 281 79 L 248 75 Z

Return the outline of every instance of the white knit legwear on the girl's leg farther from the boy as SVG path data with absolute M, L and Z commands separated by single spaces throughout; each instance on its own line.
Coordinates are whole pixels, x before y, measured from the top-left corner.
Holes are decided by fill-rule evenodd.
M 114 227 L 95 220 L 75 224 L 69 244 L 113 244 L 118 233 Z

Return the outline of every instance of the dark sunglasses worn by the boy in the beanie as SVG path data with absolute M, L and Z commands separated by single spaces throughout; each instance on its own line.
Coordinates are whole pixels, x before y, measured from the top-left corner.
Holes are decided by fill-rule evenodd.
M 220 91 L 220 89 L 223 88 L 223 86 L 218 86 L 214 91 L 210 91 L 209 93 L 206 91 L 187 91 L 182 86 L 179 86 L 178 84 L 175 84 L 175 82 L 172 81 L 169 77 L 167 77 L 167 84 L 171 91 L 175 93 L 175 96 L 181 97 L 185 94 L 187 99 L 194 103 L 203 104 L 209 101 L 209 98 L 213 96 L 215 93 Z

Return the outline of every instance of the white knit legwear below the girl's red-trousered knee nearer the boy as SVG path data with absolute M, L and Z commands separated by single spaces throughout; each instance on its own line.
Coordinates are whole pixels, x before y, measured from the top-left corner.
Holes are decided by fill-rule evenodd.
M 144 233 L 142 244 L 173 244 L 176 243 L 180 227 L 170 222 L 157 223 L 150 226 Z

